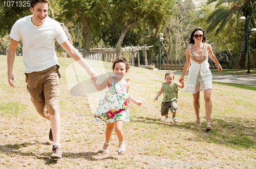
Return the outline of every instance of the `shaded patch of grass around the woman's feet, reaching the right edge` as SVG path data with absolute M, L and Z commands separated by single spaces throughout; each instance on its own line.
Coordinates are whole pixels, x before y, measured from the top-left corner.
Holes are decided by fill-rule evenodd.
M 231 148 L 256 149 L 256 124 L 255 119 L 243 119 L 233 117 L 223 117 L 222 119 L 211 119 L 212 130 L 205 131 L 205 122 L 202 127 L 195 126 L 195 122 L 188 123 L 165 123 L 157 119 L 136 117 L 138 120 L 131 120 L 135 123 L 146 123 L 156 125 L 166 125 L 175 127 L 177 130 L 183 128 L 193 132 L 196 136 L 186 138 L 195 142 L 207 142 L 225 145 Z

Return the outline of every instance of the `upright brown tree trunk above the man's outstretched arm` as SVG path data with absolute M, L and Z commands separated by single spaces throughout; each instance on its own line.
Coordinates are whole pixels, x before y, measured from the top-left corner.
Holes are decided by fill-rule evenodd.
M 82 45 L 82 57 L 86 58 L 89 57 L 89 51 L 90 51 L 90 35 L 89 35 L 89 29 L 88 29 L 88 19 L 87 16 L 84 15 L 84 11 L 82 10 L 82 37 L 84 39 L 84 44 Z

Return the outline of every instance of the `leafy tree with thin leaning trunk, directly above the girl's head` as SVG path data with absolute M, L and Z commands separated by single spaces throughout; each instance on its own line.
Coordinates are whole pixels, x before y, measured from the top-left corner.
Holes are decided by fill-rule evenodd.
M 172 0 L 114 0 L 112 3 L 112 19 L 116 21 L 121 30 L 116 44 L 117 57 L 120 55 L 127 30 L 135 24 L 140 25 L 146 22 L 158 32 L 160 25 L 165 24 L 166 18 L 172 13 L 172 7 L 174 6 Z

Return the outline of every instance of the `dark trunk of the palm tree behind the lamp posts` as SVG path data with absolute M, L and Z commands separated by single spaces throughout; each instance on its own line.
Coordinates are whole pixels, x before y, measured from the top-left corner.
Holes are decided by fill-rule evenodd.
M 245 68 L 246 54 L 247 54 L 247 24 L 245 24 L 244 26 L 244 34 L 243 34 L 242 47 L 241 47 L 241 53 L 240 53 L 240 60 L 238 65 L 239 69 Z

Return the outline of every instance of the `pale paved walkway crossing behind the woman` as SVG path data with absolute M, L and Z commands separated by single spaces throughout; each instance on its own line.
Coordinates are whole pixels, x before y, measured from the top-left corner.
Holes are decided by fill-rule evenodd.
M 174 72 L 174 74 L 181 75 L 182 72 Z M 187 77 L 187 74 L 188 73 L 186 73 L 185 77 Z M 256 76 L 251 76 L 251 75 L 232 75 L 232 74 L 212 73 L 212 81 L 256 86 Z

